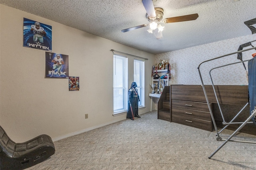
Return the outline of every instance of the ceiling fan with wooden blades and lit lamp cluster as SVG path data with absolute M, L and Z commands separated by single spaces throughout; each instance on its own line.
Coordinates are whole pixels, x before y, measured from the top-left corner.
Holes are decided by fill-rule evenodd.
M 134 29 L 146 27 L 149 25 L 149 29 L 147 30 L 149 33 L 154 33 L 156 39 L 162 38 L 162 31 L 164 27 L 160 24 L 160 22 L 164 23 L 172 23 L 172 22 L 182 22 L 182 21 L 192 21 L 198 18 L 198 14 L 190 14 L 185 16 L 171 17 L 165 18 L 163 21 L 164 10 L 162 8 L 154 8 L 154 4 L 152 0 L 142 0 L 142 4 L 147 12 L 149 24 L 138 25 L 136 27 L 130 27 L 127 29 L 122 29 L 121 31 L 127 32 L 132 31 Z

